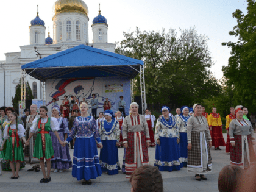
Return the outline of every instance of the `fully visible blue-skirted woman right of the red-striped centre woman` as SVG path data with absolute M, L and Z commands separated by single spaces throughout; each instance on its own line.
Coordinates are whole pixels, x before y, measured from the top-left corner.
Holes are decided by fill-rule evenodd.
M 169 111 L 169 107 L 163 106 L 161 109 L 163 116 L 157 119 L 155 127 L 157 147 L 154 166 L 157 166 L 159 171 L 171 172 L 173 170 L 179 171 L 182 165 L 179 160 L 179 129 L 176 118 L 169 116 Z

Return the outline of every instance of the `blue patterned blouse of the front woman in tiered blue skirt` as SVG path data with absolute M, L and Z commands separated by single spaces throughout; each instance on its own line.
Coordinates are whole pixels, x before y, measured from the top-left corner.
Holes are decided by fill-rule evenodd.
M 93 116 L 79 116 L 74 119 L 73 127 L 68 135 L 68 138 L 66 139 L 66 142 L 69 143 L 71 140 L 73 140 L 74 137 L 90 138 L 93 136 L 98 141 L 98 143 L 101 143 L 96 121 Z

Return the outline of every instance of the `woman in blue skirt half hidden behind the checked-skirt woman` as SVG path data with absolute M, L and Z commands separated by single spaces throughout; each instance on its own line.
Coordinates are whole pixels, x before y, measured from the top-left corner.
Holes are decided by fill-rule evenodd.
M 188 106 L 183 106 L 180 108 L 181 112 L 177 118 L 177 127 L 179 128 L 180 132 L 180 163 L 187 167 L 188 163 L 188 136 L 187 136 L 187 122 L 190 118 L 189 108 Z

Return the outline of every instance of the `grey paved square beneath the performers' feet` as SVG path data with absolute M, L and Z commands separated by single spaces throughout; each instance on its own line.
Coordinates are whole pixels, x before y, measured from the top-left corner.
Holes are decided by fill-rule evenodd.
M 226 140 L 226 134 L 224 139 Z M 229 154 L 226 154 L 225 148 L 221 147 L 221 151 L 211 149 L 213 171 L 207 174 L 207 181 L 198 182 L 194 179 L 194 174 L 188 174 L 187 168 L 182 168 L 181 171 L 161 172 L 163 177 L 163 186 L 165 191 L 218 191 L 218 176 L 221 169 L 230 164 Z M 98 149 L 99 152 L 99 149 Z M 118 148 L 119 162 L 123 162 L 124 148 Z M 73 149 L 70 149 L 71 155 L 73 155 Z M 154 164 L 155 148 L 149 148 L 149 162 Z M 48 192 L 48 191 L 74 191 L 74 192 L 87 192 L 87 191 L 99 191 L 99 192 L 128 192 L 130 191 L 129 180 L 126 179 L 125 174 L 119 171 L 115 176 L 108 176 L 106 173 L 102 173 L 101 177 L 92 179 L 93 185 L 81 185 L 76 178 L 72 177 L 71 169 L 65 172 L 51 172 L 52 181 L 49 183 L 39 183 L 43 178 L 42 172 L 27 172 L 30 169 L 29 165 L 21 169 L 19 172 L 20 178 L 11 180 L 12 173 L 9 171 L 2 171 L 0 176 L 0 191 L 1 192 Z

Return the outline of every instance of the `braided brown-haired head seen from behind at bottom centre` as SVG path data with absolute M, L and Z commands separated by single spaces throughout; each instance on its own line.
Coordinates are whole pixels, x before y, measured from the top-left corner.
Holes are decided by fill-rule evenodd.
M 144 165 L 130 176 L 132 192 L 162 192 L 163 179 L 156 166 Z

